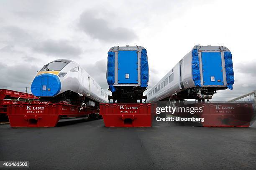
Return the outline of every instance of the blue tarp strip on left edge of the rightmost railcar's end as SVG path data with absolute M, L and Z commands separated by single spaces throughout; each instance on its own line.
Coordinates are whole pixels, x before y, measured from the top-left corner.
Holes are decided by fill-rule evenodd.
M 200 63 L 197 49 L 192 50 L 192 76 L 195 85 L 201 86 Z

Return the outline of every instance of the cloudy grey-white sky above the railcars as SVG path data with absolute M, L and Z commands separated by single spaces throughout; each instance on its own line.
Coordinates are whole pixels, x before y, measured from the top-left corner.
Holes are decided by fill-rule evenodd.
M 74 60 L 105 89 L 107 52 L 148 51 L 149 88 L 193 46 L 233 54 L 235 84 L 215 100 L 256 90 L 256 2 L 235 0 L 0 0 L 0 88 L 25 91 L 52 60 Z M 30 89 L 28 89 L 30 92 Z

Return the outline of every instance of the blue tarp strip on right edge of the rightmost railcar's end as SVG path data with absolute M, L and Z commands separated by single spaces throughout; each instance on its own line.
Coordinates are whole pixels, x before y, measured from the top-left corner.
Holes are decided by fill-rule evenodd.
M 233 84 L 235 82 L 235 77 L 234 77 L 234 70 L 233 70 L 232 54 L 230 51 L 224 52 L 224 59 L 225 59 L 227 87 L 232 90 Z

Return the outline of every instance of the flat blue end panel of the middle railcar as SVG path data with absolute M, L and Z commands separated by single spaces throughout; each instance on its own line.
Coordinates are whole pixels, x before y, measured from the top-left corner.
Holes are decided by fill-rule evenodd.
M 118 51 L 118 84 L 138 84 L 137 50 Z

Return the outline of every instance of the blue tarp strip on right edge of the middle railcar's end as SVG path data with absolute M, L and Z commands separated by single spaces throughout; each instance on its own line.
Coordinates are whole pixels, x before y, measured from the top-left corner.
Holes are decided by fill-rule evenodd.
M 141 87 L 148 86 L 149 72 L 148 72 L 148 57 L 147 50 L 141 50 Z

